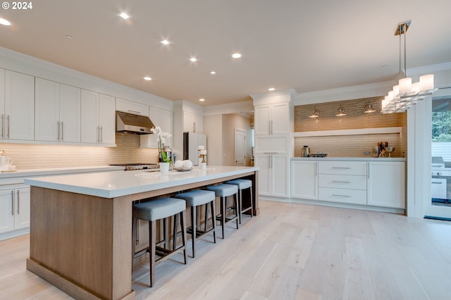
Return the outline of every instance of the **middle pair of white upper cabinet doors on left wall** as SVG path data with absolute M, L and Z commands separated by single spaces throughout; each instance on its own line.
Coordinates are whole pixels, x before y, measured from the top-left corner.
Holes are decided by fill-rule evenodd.
M 36 78 L 35 140 L 80 143 L 80 88 Z

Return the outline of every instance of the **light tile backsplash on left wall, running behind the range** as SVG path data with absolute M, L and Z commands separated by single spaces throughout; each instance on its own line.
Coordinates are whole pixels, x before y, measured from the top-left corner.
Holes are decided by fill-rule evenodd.
M 18 170 L 113 163 L 158 163 L 158 149 L 140 148 L 140 136 L 118 133 L 116 147 L 0 143 Z

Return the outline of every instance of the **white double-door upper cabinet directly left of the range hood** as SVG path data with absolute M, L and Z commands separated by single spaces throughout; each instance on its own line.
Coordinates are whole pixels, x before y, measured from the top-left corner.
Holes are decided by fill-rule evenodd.
M 115 109 L 113 96 L 82 89 L 82 143 L 114 146 L 116 142 Z

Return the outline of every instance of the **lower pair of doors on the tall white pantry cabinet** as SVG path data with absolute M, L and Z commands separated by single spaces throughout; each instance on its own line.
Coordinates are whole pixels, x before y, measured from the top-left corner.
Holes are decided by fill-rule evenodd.
M 259 170 L 259 195 L 288 197 L 290 158 L 285 154 L 258 154 L 254 158 Z

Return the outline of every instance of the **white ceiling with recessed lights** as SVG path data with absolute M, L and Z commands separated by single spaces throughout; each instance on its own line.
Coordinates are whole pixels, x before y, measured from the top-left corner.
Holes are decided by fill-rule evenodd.
M 268 87 L 302 93 L 395 80 L 404 20 L 412 20 L 408 68 L 450 62 L 450 9 L 449 0 L 39 0 L 26 11 L 0 8 L 12 23 L 0 25 L 0 46 L 210 106 Z

